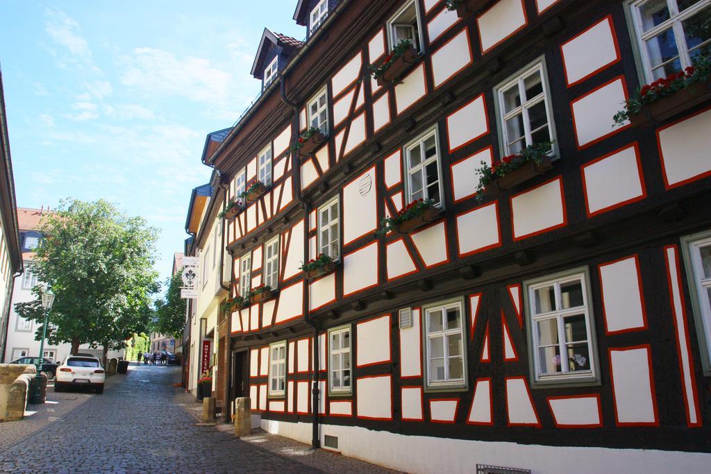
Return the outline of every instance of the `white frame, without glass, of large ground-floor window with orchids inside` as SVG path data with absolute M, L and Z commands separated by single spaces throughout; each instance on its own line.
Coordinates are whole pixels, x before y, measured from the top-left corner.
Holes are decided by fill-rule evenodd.
M 560 285 L 570 283 L 571 281 L 580 281 L 582 285 L 583 306 L 574 308 L 562 309 L 560 305 Z M 535 290 L 545 288 L 546 286 L 554 286 L 555 292 L 555 311 L 547 313 L 535 314 L 533 305 L 535 304 Z M 589 386 L 598 385 L 599 377 L 599 356 L 597 350 L 597 340 L 595 338 L 595 321 L 594 309 L 592 306 L 592 289 L 590 287 L 590 274 L 587 267 L 570 269 L 561 271 L 557 274 L 542 276 L 537 279 L 532 279 L 523 282 L 523 298 L 526 313 L 527 337 L 528 337 L 528 355 L 530 363 L 530 380 L 531 387 L 550 387 L 555 386 Z M 589 370 L 567 370 L 567 365 L 562 362 L 561 368 L 563 372 L 558 373 L 541 373 L 540 370 L 540 354 L 538 352 L 538 331 L 536 323 L 545 321 L 546 319 L 557 319 L 558 331 L 558 346 L 561 355 L 565 354 L 565 345 L 574 341 L 565 340 L 565 330 L 563 326 L 563 318 L 582 313 L 584 315 L 587 328 L 587 350 L 589 355 Z

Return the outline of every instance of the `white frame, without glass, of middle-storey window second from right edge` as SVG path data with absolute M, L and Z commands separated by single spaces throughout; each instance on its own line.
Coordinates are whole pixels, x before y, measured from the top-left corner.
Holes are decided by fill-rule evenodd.
M 525 95 L 525 86 L 523 83 L 524 77 L 530 76 L 533 72 L 537 72 L 540 74 L 541 77 L 541 85 L 542 85 L 542 92 L 535 96 L 528 98 L 526 97 L 525 102 L 521 102 L 521 104 L 516 107 L 515 109 L 511 110 L 508 113 L 504 113 L 506 110 L 506 107 L 504 105 L 504 96 L 503 92 L 510 89 L 510 87 L 513 87 L 514 85 L 518 85 L 518 93 L 519 97 L 523 99 Z M 548 133 L 550 135 L 550 141 L 553 142 L 552 149 L 550 151 L 550 155 L 555 155 L 557 151 L 557 141 L 555 139 L 555 122 L 553 121 L 553 111 L 551 108 L 551 95 L 550 95 L 550 86 L 548 85 L 548 75 L 547 75 L 547 67 L 545 63 L 545 58 L 541 57 L 535 60 L 533 63 L 530 63 L 527 65 L 525 68 L 522 70 L 519 70 L 518 72 L 515 73 L 515 75 L 508 77 L 505 81 L 501 82 L 499 85 L 494 87 L 494 97 L 496 97 L 496 121 L 498 122 L 498 129 L 501 130 L 501 133 L 499 134 L 499 144 L 501 145 L 501 156 L 508 156 L 510 154 L 513 154 L 510 151 L 510 145 L 509 145 L 509 139 L 508 139 L 508 131 L 506 129 L 506 120 L 515 117 L 518 114 L 523 115 L 523 131 L 524 131 L 524 145 L 522 148 L 525 148 L 526 146 L 529 146 L 533 144 L 533 133 L 535 131 L 538 131 L 542 129 L 542 127 L 539 127 L 535 131 L 532 131 L 530 129 L 530 119 L 528 117 L 528 110 L 535 106 L 540 104 L 540 102 L 545 103 L 545 113 L 546 113 L 546 118 L 547 118 L 547 126 L 548 126 Z

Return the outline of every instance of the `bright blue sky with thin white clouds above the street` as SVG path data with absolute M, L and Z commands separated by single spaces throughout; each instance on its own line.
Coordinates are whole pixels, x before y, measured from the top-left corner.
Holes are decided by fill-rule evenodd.
M 268 6 L 267 6 L 268 4 Z M 0 65 L 20 207 L 105 198 L 183 249 L 205 135 L 257 95 L 266 26 L 302 39 L 296 0 L 0 0 Z

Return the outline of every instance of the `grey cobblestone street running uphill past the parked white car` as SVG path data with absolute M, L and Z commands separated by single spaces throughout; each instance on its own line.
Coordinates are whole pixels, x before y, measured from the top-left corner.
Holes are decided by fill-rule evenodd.
M 171 387 L 175 377 L 173 367 L 131 367 L 122 382 L 35 433 L 14 441 L 0 438 L 0 472 L 314 473 L 322 472 L 319 463 L 331 472 L 389 472 L 327 452 L 308 456 L 306 465 L 240 441 L 224 429 L 197 426 L 181 405 L 198 404 L 187 395 L 176 397 L 181 389 Z M 0 431 L 11 426 L 0 424 Z M 276 444 L 301 456 L 306 452 L 304 445 L 289 440 Z

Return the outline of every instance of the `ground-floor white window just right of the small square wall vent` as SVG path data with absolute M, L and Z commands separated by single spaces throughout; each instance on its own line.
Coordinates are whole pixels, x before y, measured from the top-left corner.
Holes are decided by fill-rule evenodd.
M 466 350 L 461 300 L 424 308 L 427 388 L 466 387 Z

